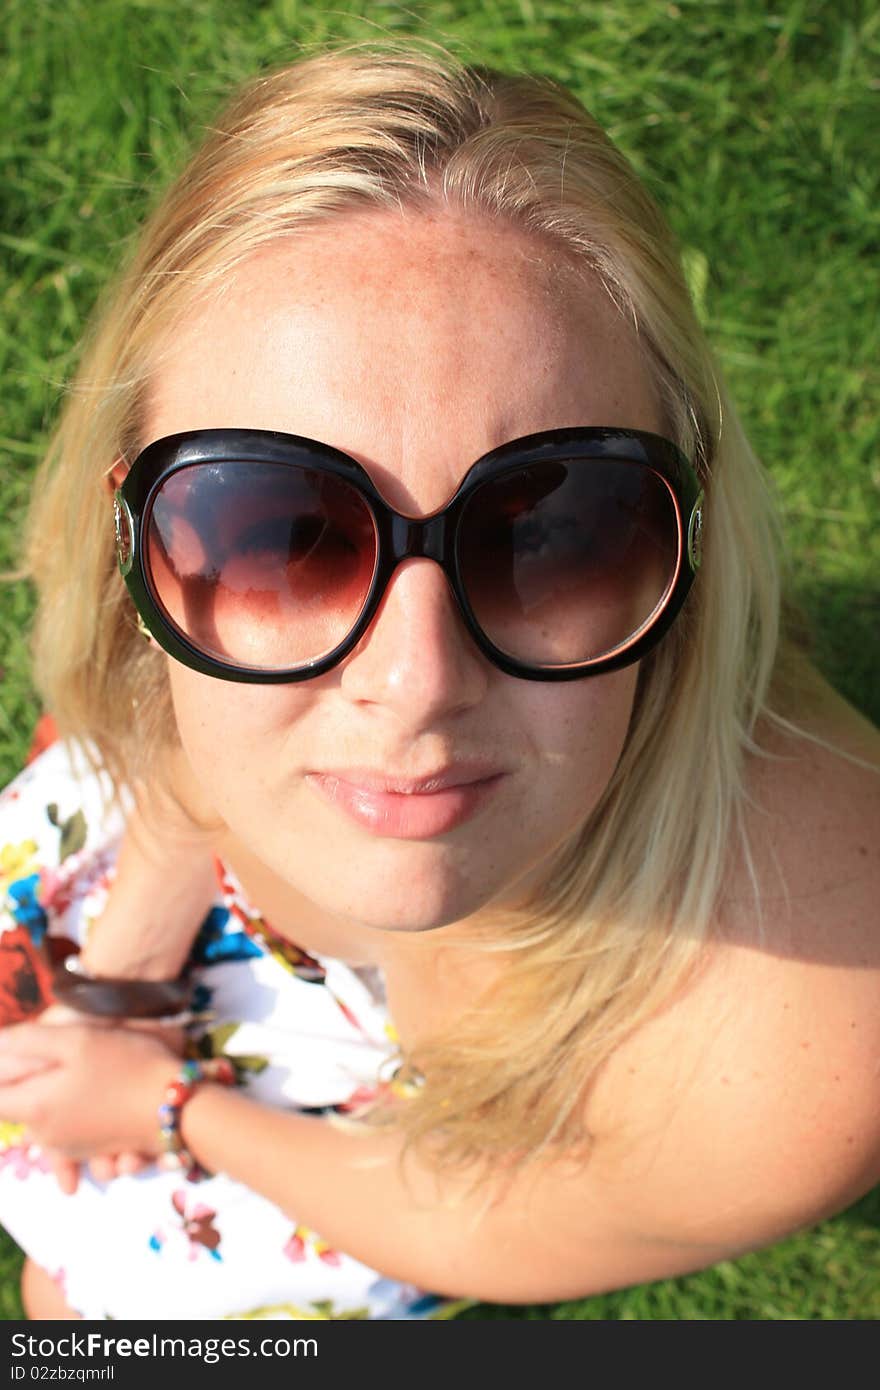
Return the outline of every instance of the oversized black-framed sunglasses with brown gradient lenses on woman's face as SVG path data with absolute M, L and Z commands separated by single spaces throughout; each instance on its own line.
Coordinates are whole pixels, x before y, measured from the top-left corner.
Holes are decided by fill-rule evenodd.
M 329 445 L 267 430 L 150 443 L 115 492 L 120 570 L 178 662 L 303 681 L 364 635 L 402 560 L 443 570 L 484 656 L 563 681 L 641 660 L 699 566 L 702 491 L 669 439 L 548 430 L 503 443 L 427 517 Z

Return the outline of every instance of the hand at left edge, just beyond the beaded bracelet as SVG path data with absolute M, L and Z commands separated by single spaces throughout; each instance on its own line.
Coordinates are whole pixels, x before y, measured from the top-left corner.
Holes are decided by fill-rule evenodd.
M 156 1034 L 19 1023 L 0 1031 L 0 1119 L 65 1159 L 160 1151 L 157 1109 L 178 1058 Z M 70 1184 L 70 1169 L 60 1165 Z

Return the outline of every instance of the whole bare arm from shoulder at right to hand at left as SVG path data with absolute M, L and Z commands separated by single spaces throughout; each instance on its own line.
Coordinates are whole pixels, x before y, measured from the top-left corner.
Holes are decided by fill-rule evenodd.
M 865 852 L 877 780 L 820 753 L 766 771 L 762 930 L 744 873 L 706 970 L 594 1087 L 588 1162 L 544 1162 L 478 1193 L 468 1175 L 441 1183 L 416 1162 L 406 1182 L 396 1137 L 361 1140 L 217 1087 L 184 1111 L 189 1150 L 388 1275 L 496 1301 L 703 1268 L 855 1201 L 880 1180 L 879 881 Z M 777 856 L 792 888 L 781 899 Z M 76 1156 L 120 1140 L 156 1152 L 168 1051 L 125 1033 L 50 1033 L 0 1034 L 0 1118 Z

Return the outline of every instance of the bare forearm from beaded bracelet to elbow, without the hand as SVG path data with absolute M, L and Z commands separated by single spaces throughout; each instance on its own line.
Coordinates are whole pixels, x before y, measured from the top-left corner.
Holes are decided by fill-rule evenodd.
M 724 1254 L 624 1233 L 582 1163 L 545 1162 L 474 1188 L 473 1172 L 439 1176 L 416 1156 L 402 1166 L 396 1134 L 350 1134 L 215 1086 L 196 1093 L 182 1130 L 202 1162 L 260 1191 L 331 1245 L 388 1277 L 452 1297 L 587 1297 Z

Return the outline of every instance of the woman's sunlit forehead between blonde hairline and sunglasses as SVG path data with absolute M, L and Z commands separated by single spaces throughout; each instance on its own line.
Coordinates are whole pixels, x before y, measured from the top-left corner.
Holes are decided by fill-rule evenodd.
M 359 459 L 399 506 L 439 506 L 507 439 L 660 430 L 631 324 L 544 242 L 445 213 L 338 218 L 245 260 L 157 357 L 146 439 L 282 430 Z

